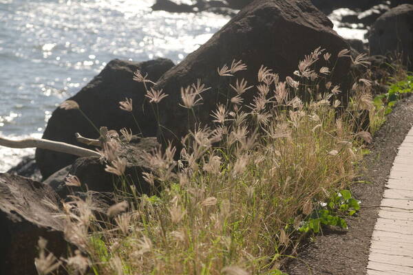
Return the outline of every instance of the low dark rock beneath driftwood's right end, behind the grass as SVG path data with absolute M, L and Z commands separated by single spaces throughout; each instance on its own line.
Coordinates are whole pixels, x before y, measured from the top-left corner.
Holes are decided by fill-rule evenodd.
M 151 186 L 142 179 L 142 172 L 148 171 L 149 167 L 142 152 L 151 151 L 160 146 L 156 137 L 135 137 L 129 144 L 120 143 L 117 154 L 127 159 L 125 169 L 125 183 L 134 184 L 136 191 L 140 194 L 149 194 Z M 65 198 L 71 192 L 92 190 L 96 192 L 114 192 L 115 188 L 122 189 L 123 181 L 112 173 L 105 171 L 106 162 L 99 157 L 80 157 L 72 166 L 67 166 L 47 178 L 44 183 L 50 185 L 60 197 Z M 65 185 L 67 175 L 76 175 L 81 181 L 80 188 Z

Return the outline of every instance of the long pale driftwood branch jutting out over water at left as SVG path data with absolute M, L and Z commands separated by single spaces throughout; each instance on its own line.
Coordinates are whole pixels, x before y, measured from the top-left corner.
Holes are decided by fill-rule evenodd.
M 100 156 L 98 152 L 67 144 L 64 142 L 54 142 L 52 140 L 44 140 L 41 138 L 26 138 L 23 140 L 9 140 L 5 137 L 0 137 L 0 145 L 10 148 L 41 148 L 52 150 L 60 153 L 70 155 L 77 155 L 78 157 Z

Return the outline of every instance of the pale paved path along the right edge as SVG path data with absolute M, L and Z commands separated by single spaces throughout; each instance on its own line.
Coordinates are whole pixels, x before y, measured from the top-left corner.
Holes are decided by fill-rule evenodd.
M 368 275 L 413 275 L 413 127 L 399 147 L 374 226 Z

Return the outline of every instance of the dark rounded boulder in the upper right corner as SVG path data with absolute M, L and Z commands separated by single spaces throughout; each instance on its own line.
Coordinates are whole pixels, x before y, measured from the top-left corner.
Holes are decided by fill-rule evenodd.
M 403 54 L 403 62 L 413 64 L 413 5 L 403 4 L 381 15 L 369 37 L 370 54 Z

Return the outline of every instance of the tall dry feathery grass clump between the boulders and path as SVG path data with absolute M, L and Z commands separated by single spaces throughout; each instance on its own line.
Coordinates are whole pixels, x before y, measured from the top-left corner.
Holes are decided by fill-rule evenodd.
M 350 58 L 347 53 L 338 58 Z M 211 113 L 213 124 L 189 131 L 178 160 L 171 144 L 145 153 L 151 164 L 145 180 L 160 185 L 160 192 L 140 196 L 125 178 L 119 203 L 109 210 L 92 199 L 63 203 L 67 239 L 87 256 L 90 270 L 282 274 L 279 267 L 305 232 L 319 232 L 321 224 L 346 228 L 342 217 L 354 214 L 359 202 L 345 189 L 355 176 L 362 141 L 371 137 L 353 133 L 355 118 L 343 112 L 341 88 L 329 80 L 330 56 L 316 49 L 285 81 L 261 67 L 255 87 L 235 78 L 247 69 L 241 61 L 218 68 L 231 85 L 226 102 L 217 102 Z M 363 56 L 353 62 L 366 65 Z M 209 89 L 200 81 L 182 89 L 180 105 L 195 114 L 200 94 Z M 148 91 L 149 98 L 162 93 Z M 368 80 L 354 83 L 352 91 L 352 109 L 373 108 Z M 244 93 L 255 93 L 253 101 L 243 104 Z M 108 166 L 123 173 L 114 163 Z M 96 219 L 99 210 L 107 213 L 104 221 Z M 83 274 L 66 262 L 71 273 Z

